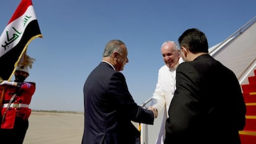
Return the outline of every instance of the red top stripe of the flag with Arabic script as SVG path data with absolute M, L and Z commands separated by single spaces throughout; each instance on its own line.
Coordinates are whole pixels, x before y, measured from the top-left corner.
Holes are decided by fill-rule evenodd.
M 33 5 L 32 0 L 22 0 L 19 6 L 17 7 L 16 11 L 12 15 L 11 20 L 8 22 L 8 24 L 14 21 L 15 19 L 18 19 L 21 15 L 23 15 L 25 11 L 27 11 L 28 7 L 31 5 Z

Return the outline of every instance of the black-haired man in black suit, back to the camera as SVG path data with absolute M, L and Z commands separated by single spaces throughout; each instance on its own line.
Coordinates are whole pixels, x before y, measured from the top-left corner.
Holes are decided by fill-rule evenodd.
M 185 62 L 176 70 L 164 144 L 241 143 L 246 109 L 236 75 L 208 54 L 197 28 L 182 33 L 179 45 Z

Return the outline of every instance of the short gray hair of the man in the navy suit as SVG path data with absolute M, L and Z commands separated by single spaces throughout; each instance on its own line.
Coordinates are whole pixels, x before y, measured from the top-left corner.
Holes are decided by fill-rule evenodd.
M 111 56 L 111 54 L 113 54 L 115 51 L 120 53 L 121 52 L 121 50 L 120 50 L 121 45 L 126 45 L 126 44 L 124 44 L 124 42 L 122 42 L 121 40 L 111 40 L 111 41 L 109 41 L 105 46 L 103 57 Z

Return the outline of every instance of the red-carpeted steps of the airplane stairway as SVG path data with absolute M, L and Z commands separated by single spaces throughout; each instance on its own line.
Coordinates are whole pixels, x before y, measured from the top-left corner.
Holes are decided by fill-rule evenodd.
M 241 85 L 246 104 L 244 130 L 239 132 L 242 144 L 256 144 L 256 70 L 248 77 L 249 84 Z

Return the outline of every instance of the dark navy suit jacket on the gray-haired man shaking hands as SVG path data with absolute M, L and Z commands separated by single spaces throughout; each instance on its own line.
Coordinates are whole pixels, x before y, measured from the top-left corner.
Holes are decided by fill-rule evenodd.
M 153 124 L 153 112 L 134 102 L 124 75 L 106 62 L 88 75 L 83 93 L 82 144 L 140 143 L 139 130 L 131 121 Z

